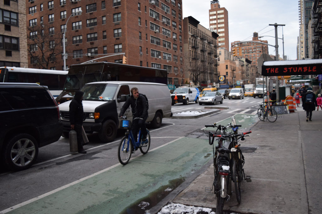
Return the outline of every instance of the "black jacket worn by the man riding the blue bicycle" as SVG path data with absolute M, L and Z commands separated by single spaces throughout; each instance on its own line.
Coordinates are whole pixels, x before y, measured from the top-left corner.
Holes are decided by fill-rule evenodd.
M 133 117 L 140 117 L 140 118 L 147 118 L 148 113 L 147 113 L 147 100 L 146 98 L 139 94 L 139 97 L 137 99 L 135 99 L 133 97 L 133 95 L 131 95 L 126 102 L 124 103 L 124 105 L 121 108 L 119 117 L 123 116 L 126 109 L 128 109 L 128 107 L 131 105 L 132 108 L 132 114 Z

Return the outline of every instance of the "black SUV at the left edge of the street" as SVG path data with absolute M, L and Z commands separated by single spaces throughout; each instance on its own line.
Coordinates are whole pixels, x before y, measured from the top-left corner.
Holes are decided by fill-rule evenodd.
M 58 105 L 36 83 L 0 83 L 0 118 L 0 156 L 8 169 L 31 167 L 38 148 L 62 135 Z

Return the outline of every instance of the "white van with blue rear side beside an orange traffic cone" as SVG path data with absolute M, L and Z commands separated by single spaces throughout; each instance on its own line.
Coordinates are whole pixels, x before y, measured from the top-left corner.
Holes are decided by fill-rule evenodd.
M 194 101 L 198 103 L 199 101 L 199 90 L 198 88 L 193 87 L 180 87 L 176 88 L 171 94 L 172 105 L 175 103 L 183 103 L 184 105 L 188 105 L 189 102 Z

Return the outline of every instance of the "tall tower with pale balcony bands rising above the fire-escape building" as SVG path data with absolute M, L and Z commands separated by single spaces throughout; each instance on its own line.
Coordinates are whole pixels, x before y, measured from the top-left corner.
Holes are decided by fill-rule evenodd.
M 212 0 L 210 3 L 210 30 L 219 35 L 217 39 L 218 47 L 229 50 L 228 11 L 224 7 L 220 7 L 219 0 Z

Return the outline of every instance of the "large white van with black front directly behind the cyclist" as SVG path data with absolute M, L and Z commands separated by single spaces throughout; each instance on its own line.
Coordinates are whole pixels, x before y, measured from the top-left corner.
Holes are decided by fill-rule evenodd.
M 83 127 L 86 133 L 99 133 L 103 142 L 113 141 L 117 130 L 120 128 L 118 115 L 128 97 L 131 88 L 137 87 L 139 93 L 145 94 L 148 99 L 149 109 L 146 122 L 153 128 L 159 128 L 162 118 L 172 116 L 169 89 L 165 84 L 153 82 L 128 82 L 128 81 L 103 81 L 91 82 L 81 89 L 83 95 L 83 109 L 85 120 Z M 63 124 L 63 136 L 68 137 L 71 130 L 69 122 L 69 104 L 71 101 L 59 105 Z M 125 114 L 132 120 L 131 107 Z

